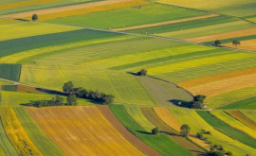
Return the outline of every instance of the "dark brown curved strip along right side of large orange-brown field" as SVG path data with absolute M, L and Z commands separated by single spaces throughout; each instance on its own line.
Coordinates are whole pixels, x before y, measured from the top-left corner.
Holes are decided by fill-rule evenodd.
M 140 151 L 142 151 L 144 154 L 149 156 L 160 156 L 160 154 L 153 149 L 152 147 L 149 147 L 145 143 L 143 143 L 141 140 L 139 140 L 134 134 L 132 134 L 129 130 L 127 130 L 118 120 L 118 118 L 111 113 L 111 111 L 106 107 L 98 107 L 98 109 L 101 111 L 101 113 L 104 115 L 104 117 L 111 122 L 111 124 L 119 130 L 119 132 L 125 137 L 126 140 L 128 140 L 130 143 L 135 145 Z

